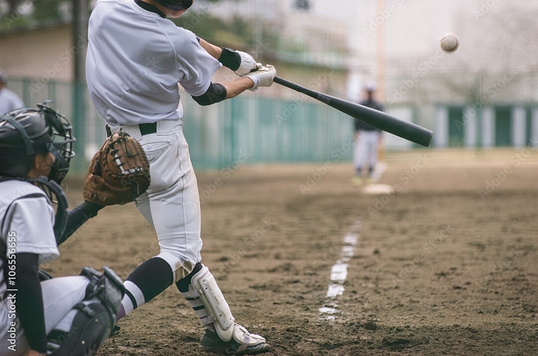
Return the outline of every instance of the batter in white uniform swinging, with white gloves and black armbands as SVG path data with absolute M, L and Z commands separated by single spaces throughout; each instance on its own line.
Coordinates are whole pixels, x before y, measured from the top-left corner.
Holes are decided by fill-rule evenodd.
M 179 18 L 190 5 L 188 0 L 100 0 L 89 20 L 88 89 L 111 130 L 129 133 L 144 147 L 151 184 L 136 204 L 160 246 L 157 256 L 127 277 L 117 319 L 175 283 L 205 328 L 203 350 L 265 352 L 265 338 L 235 323 L 213 275 L 201 264 L 199 193 L 182 132 L 178 83 L 197 103 L 210 105 L 271 86 L 276 70 L 166 19 Z M 211 82 L 222 65 L 238 77 Z

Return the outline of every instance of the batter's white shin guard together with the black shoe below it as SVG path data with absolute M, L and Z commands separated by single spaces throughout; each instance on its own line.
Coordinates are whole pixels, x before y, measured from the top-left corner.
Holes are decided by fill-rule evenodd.
M 235 323 L 230 307 L 217 282 L 206 266 L 193 275 L 191 286 L 188 292 L 182 293 L 186 298 L 198 297 L 206 308 L 208 317 L 202 321 L 204 325 L 213 323 L 218 339 L 215 340 L 204 334 L 202 337 L 202 348 L 213 350 L 215 348 L 229 348 L 233 344 L 235 354 L 249 354 L 256 350 L 256 353 L 268 350 L 265 338 L 251 334 L 243 326 Z M 224 343 L 222 341 L 224 341 Z

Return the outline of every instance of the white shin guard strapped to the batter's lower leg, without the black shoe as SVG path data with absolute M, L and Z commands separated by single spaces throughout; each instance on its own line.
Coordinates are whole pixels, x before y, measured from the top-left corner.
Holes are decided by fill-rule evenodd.
M 218 288 L 215 277 L 209 272 L 209 268 L 202 265 L 202 269 L 192 277 L 190 284 L 194 289 L 182 293 L 183 296 L 200 298 L 208 313 L 208 317 L 202 323 L 204 325 L 213 323 L 221 340 L 230 341 L 233 338 L 245 348 L 265 343 L 265 338 L 251 334 L 243 326 L 235 323 L 230 307 L 226 303 L 221 289 Z

